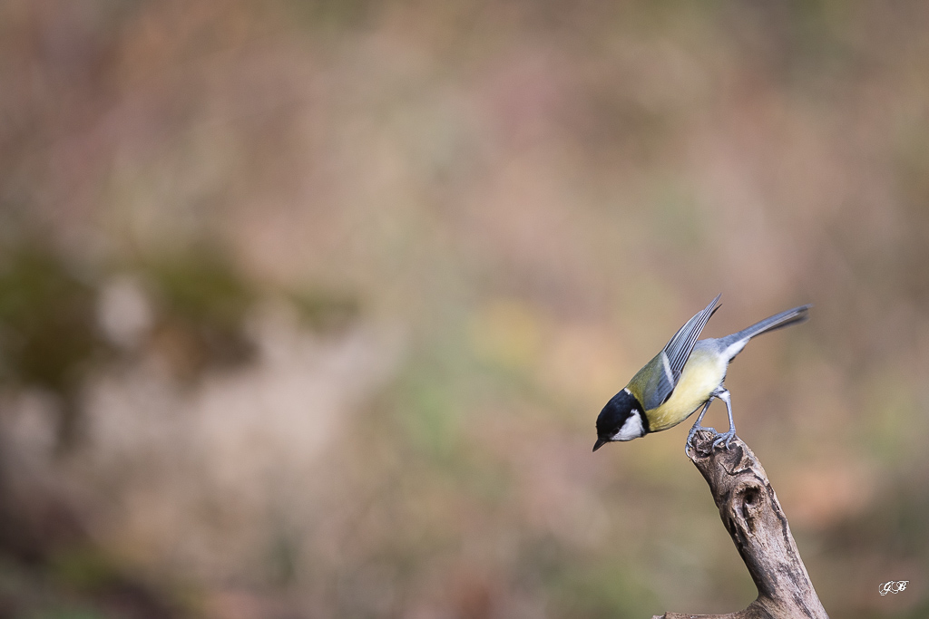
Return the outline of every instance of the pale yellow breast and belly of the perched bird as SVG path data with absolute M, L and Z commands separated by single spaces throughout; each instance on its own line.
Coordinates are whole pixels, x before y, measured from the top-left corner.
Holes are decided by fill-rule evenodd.
M 701 349 L 699 345 L 694 348 L 668 401 L 646 411 L 649 430 L 673 428 L 703 406 L 726 377 L 727 365 L 714 350 Z

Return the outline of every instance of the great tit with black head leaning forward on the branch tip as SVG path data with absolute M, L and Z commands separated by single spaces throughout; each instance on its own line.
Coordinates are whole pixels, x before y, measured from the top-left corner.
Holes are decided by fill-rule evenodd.
M 700 331 L 719 309 L 716 303 L 722 296 L 717 295 L 706 309 L 690 318 L 686 325 L 674 333 L 661 353 L 636 372 L 633 380 L 603 407 L 596 418 L 597 439 L 594 451 L 612 441 L 631 441 L 648 432 L 673 428 L 700 406 L 703 409 L 687 434 L 685 452 L 698 430 L 710 430 L 715 434 L 713 447 L 721 443 L 726 444 L 726 449 L 729 447 L 729 441 L 736 435 L 732 403 L 729 392 L 723 386 L 729 362 L 756 335 L 804 322 L 809 317 L 807 312 L 811 306 L 794 307 L 738 333 L 698 342 Z M 700 425 L 713 398 L 717 397 L 726 403 L 728 432 L 719 433 L 713 428 Z

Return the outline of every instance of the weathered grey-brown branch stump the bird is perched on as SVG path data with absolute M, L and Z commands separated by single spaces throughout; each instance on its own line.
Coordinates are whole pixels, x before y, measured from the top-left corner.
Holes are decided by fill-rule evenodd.
M 758 587 L 758 598 L 738 613 L 665 613 L 661 617 L 829 619 L 797 552 L 787 516 L 758 458 L 738 437 L 728 450 L 712 448 L 712 432 L 698 432 L 695 439 L 696 449 L 690 450 L 690 459 L 710 484 L 726 531 Z

